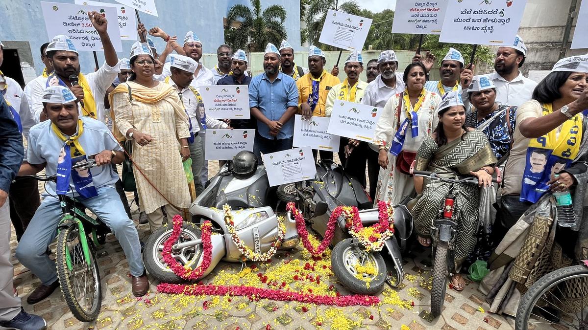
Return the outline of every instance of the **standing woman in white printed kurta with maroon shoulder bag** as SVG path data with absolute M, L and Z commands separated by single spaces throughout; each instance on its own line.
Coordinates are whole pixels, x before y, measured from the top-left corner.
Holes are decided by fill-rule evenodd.
M 408 169 L 420 144 L 437 125 L 436 109 L 441 97 L 425 89 L 423 63 L 410 63 L 403 79 L 406 91 L 390 97 L 376 124 L 377 161 L 382 168 L 377 179 L 375 203 L 384 200 L 397 204 L 404 196 L 415 195 Z

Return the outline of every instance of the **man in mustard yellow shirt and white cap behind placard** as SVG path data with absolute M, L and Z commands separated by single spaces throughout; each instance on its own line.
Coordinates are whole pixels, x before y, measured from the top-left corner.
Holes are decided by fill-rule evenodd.
M 310 46 L 308 52 L 309 73 L 296 80 L 298 86 L 298 107 L 305 120 L 312 116 L 326 116 L 326 100 L 329 90 L 340 83 L 339 78 L 326 72 L 325 53 L 316 46 Z M 316 150 L 313 150 L 316 158 Z M 320 150 L 320 159 L 333 159 L 331 151 Z

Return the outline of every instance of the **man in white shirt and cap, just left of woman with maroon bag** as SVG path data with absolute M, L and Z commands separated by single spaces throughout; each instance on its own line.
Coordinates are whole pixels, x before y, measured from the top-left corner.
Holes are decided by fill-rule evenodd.
M 365 105 L 384 107 L 386 102 L 398 93 L 405 90 L 402 73 L 398 69 L 398 58 L 394 50 L 384 50 L 377 58 L 377 69 L 380 74 L 376 80 L 370 82 L 363 95 L 362 103 Z

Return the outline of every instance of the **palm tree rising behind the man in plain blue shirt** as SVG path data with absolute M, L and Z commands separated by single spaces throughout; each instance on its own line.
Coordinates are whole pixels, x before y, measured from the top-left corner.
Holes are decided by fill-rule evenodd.
M 268 42 L 279 45 L 288 37 L 283 22 L 286 20 L 286 9 L 280 5 L 271 5 L 262 11 L 260 0 L 250 0 L 252 8 L 245 5 L 234 5 L 226 16 L 227 25 L 233 22 L 241 24 L 235 33 L 229 33 L 233 48 L 249 49 L 250 52 L 263 52 Z M 229 41 L 227 41 L 229 42 Z

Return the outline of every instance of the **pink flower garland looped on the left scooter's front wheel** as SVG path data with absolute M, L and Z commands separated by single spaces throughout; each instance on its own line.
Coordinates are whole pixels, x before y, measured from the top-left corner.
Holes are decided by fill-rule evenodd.
M 194 281 L 202 277 L 204 272 L 208 270 L 212 261 L 212 243 L 211 243 L 211 221 L 204 221 L 201 227 L 201 238 L 202 238 L 202 264 L 192 269 L 190 267 L 182 266 L 175 258 L 172 257 L 172 246 L 178 241 L 180 234 L 182 233 L 182 222 L 181 215 L 176 214 L 173 216 L 173 231 L 172 235 L 163 243 L 163 262 L 165 262 L 169 268 L 173 271 L 173 274 L 178 275 L 184 280 Z

